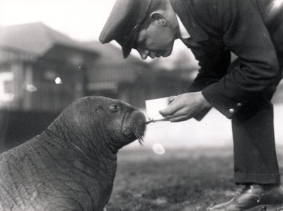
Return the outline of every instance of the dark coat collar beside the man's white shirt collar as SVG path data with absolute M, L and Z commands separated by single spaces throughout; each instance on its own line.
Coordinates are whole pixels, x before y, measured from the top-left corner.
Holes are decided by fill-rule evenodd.
M 192 40 L 196 42 L 208 40 L 207 33 L 200 28 L 195 19 L 195 11 L 192 2 L 186 0 L 170 0 L 175 13 L 180 17 L 181 21 L 190 33 Z

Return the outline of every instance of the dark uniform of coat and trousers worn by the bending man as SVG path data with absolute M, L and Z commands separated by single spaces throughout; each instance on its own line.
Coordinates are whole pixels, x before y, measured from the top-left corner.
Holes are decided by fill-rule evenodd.
M 282 0 L 171 0 L 200 70 L 189 91 L 231 118 L 235 183 L 280 183 L 271 98 L 282 79 Z M 231 63 L 231 52 L 238 59 Z

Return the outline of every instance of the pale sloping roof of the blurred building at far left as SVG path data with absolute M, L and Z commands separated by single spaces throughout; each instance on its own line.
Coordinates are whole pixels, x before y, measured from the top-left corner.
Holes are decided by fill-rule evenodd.
M 1 47 L 41 56 L 54 45 L 65 45 L 78 50 L 94 52 L 87 45 L 73 40 L 40 22 L 0 27 Z

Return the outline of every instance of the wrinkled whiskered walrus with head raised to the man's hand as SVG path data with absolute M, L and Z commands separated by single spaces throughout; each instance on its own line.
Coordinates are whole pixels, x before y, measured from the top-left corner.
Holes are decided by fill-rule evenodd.
M 103 210 L 117 152 L 143 140 L 145 120 L 137 108 L 112 98 L 71 103 L 47 130 L 0 154 L 0 210 Z

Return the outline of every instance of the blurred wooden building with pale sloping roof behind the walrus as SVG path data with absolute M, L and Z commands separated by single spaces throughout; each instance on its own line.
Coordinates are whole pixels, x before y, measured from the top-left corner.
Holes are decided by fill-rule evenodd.
M 0 108 L 61 111 L 86 94 L 97 55 L 42 23 L 0 28 Z

